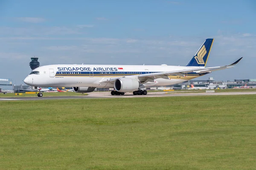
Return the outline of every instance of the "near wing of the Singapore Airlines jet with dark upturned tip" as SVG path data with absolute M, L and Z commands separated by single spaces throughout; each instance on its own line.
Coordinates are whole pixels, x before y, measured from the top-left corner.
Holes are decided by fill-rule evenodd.
M 176 70 L 176 71 L 167 71 L 167 72 L 149 73 L 149 74 L 140 74 L 140 75 L 132 75 L 132 76 L 122 76 L 122 77 L 138 78 L 140 82 L 145 82 L 147 79 L 157 79 L 157 78 L 169 79 L 168 76 L 171 76 L 171 75 L 178 75 L 180 77 L 185 77 L 184 74 L 191 73 L 191 72 L 202 74 L 202 73 L 210 73 L 212 71 L 224 70 L 227 68 L 233 68 L 234 65 L 236 65 L 242 58 L 243 57 L 239 58 L 238 60 L 236 60 L 230 65 L 224 65 L 224 66 L 218 66 L 218 67 L 191 68 L 191 69 L 185 69 L 185 70 Z M 105 80 L 104 82 L 113 82 L 117 78 L 119 77 L 112 77 Z

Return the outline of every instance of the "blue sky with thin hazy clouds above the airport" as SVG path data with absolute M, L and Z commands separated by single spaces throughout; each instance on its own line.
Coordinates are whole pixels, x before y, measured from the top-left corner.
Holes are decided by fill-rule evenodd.
M 187 65 L 214 38 L 197 79 L 256 79 L 254 0 L 0 0 L 0 78 L 22 80 L 41 65 Z

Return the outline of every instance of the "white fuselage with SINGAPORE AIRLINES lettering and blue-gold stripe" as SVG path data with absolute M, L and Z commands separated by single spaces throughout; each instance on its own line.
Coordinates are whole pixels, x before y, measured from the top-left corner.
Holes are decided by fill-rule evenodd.
M 136 76 L 139 74 L 186 70 L 198 67 L 169 65 L 45 65 L 36 68 L 24 82 L 31 86 L 41 87 L 96 87 L 114 88 L 113 83 L 104 82 L 111 77 Z M 169 76 L 169 79 L 158 78 L 146 82 L 145 87 L 166 86 L 193 79 L 201 74 L 188 73 L 185 77 Z

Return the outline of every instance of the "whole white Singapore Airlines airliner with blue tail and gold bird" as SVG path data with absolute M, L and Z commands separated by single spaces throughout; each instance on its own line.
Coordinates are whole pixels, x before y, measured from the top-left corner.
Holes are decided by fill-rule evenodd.
M 35 87 L 73 87 L 77 93 L 92 92 L 95 88 L 114 88 L 112 95 L 124 95 L 125 92 L 146 95 L 147 91 L 143 88 L 173 85 L 212 71 L 233 68 L 242 59 L 230 65 L 206 68 L 213 40 L 205 40 L 186 66 L 45 65 L 33 70 L 24 82 Z

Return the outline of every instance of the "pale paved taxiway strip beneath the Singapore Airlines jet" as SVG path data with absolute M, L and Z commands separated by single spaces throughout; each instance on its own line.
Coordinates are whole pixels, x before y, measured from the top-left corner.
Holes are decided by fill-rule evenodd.
M 112 96 L 110 92 L 93 92 L 88 96 L 43 96 L 43 97 L 5 97 L 0 98 L 0 101 L 6 100 L 59 100 L 59 99 L 99 99 L 99 98 L 131 98 L 131 97 L 174 97 L 174 96 L 212 96 L 212 95 L 244 95 L 256 94 L 256 91 L 248 92 L 218 92 L 218 93 L 195 93 L 195 92 L 149 92 L 147 95 L 133 95 L 125 93 L 125 95 Z

